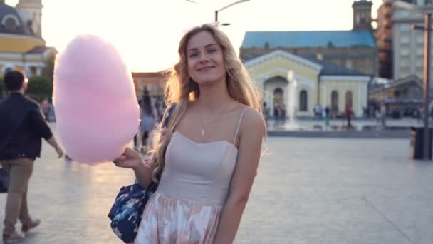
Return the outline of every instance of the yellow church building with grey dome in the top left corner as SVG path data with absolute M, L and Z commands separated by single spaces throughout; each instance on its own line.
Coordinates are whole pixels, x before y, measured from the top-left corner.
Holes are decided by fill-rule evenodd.
M 10 69 L 39 76 L 56 54 L 42 38 L 42 8 L 42 0 L 19 0 L 16 7 L 0 0 L 0 77 Z

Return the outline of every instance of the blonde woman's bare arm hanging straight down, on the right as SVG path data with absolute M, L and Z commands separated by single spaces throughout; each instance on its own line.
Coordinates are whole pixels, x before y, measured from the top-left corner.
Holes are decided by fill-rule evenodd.
M 233 243 L 257 174 L 264 131 L 261 113 L 249 109 L 241 122 L 238 159 L 231 178 L 229 197 L 216 230 L 215 244 Z

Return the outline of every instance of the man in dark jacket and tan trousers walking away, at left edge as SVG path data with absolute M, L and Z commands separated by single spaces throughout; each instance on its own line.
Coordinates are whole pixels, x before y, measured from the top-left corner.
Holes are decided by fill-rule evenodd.
M 3 240 L 19 240 L 15 224 L 19 219 L 23 233 L 35 228 L 41 220 L 32 219 L 28 213 L 28 180 L 33 172 L 33 162 L 41 156 L 44 138 L 58 154 L 63 149 L 58 146 L 48 127 L 41 108 L 36 101 L 26 98 L 26 82 L 19 71 L 9 71 L 4 75 L 4 83 L 10 95 L 0 101 L 0 163 L 9 172 L 9 188 L 6 200 Z

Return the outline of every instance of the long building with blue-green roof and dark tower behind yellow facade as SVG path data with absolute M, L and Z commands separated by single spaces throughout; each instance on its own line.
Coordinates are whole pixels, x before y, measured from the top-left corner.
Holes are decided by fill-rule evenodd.
M 247 31 L 240 56 L 248 61 L 276 50 L 299 56 L 321 56 L 323 61 L 377 76 L 378 54 L 371 27 L 371 2 L 353 4 L 353 30 Z

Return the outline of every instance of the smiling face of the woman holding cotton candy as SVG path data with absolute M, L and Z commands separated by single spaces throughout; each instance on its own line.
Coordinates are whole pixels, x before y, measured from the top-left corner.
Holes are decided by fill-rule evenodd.
M 209 31 L 200 31 L 189 39 L 187 65 L 189 76 L 199 85 L 225 78 L 226 68 L 221 46 Z

